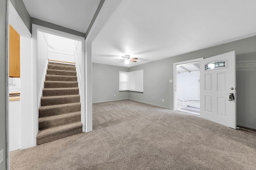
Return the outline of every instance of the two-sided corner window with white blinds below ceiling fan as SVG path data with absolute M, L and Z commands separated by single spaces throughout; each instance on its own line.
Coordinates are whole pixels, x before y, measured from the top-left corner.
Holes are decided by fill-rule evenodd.
M 143 70 L 119 71 L 119 91 L 143 92 Z

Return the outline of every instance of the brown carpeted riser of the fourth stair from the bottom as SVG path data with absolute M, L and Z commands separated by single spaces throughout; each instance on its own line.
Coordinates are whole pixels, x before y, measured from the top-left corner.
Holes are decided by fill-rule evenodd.
M 78 103 L 80 102 L 80 96 L 66 96 L 65 98 L 60 99 L 41 99 L 41 106 L 50 106 L 50 105 L 62 105 L 67 103 Z

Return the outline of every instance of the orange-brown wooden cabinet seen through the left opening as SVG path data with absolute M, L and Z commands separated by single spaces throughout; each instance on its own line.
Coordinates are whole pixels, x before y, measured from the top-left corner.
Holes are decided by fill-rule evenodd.
M 20 77 L 20 35 L 9 26 L 9 77 Z

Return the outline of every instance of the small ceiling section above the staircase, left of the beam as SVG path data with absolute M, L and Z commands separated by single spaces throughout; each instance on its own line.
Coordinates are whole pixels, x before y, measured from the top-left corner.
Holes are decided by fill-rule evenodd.
M 85 33 L 100 0 L 23 0 L 31 17 Z

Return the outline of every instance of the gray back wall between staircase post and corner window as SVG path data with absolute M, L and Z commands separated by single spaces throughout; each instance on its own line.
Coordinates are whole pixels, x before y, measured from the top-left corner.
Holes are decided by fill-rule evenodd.
M 128 91 L 119 91 L 119 71 L 129 71 L 129 68 L 92 63 L 93 103 L 128 99 Z

